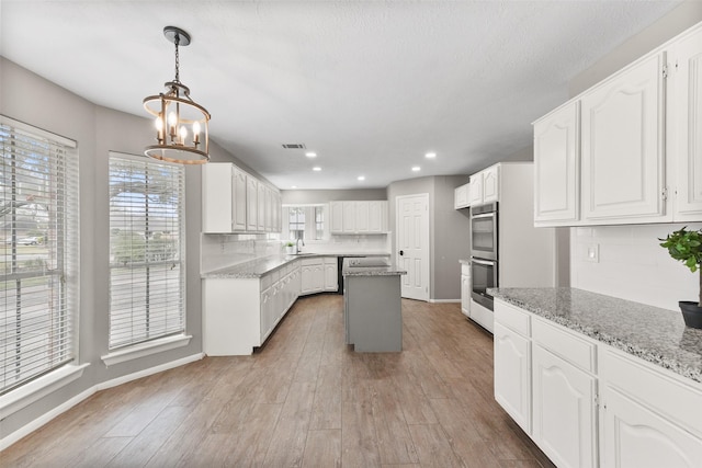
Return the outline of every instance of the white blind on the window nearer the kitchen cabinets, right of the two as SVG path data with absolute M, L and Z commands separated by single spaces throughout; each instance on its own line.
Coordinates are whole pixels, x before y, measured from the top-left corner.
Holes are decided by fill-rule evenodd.
M 110 153 L 110 350 L 185 330 L 184 176 Z

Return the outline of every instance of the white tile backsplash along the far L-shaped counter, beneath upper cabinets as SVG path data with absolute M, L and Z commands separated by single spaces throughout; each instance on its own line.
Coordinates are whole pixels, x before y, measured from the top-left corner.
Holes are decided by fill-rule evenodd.
M 271 235 L 274 237 L 276 235 Z M 201 235 L 201 272 L 212 272 L 262 256 L 284 254 L 283 241 L 268 235 Z M 387 253 L 386 235 L 331 236 L 328 240 L 308 240 L 303 252 L 313 253 Z

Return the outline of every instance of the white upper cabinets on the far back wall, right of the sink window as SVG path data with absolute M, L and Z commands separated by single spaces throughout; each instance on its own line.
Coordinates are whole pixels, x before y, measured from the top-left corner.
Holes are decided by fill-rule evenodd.
M 331 233 L 386 233 L 387 201 L 331 202 Z

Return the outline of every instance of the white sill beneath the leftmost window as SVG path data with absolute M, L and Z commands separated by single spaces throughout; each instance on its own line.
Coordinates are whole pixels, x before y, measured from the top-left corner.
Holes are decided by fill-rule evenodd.
M 90 364 L 67 364 L 0 397 L 0 421 L 79 379 Z

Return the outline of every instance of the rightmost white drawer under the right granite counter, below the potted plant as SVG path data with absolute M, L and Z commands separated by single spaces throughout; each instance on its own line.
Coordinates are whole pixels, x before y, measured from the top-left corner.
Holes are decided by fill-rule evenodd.
M 598 347 L 599 377 L 604 385 L 633 396 L 644 407 L 702 437 L 702 384 L 657 369 L 611 346 Z

